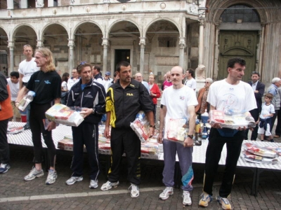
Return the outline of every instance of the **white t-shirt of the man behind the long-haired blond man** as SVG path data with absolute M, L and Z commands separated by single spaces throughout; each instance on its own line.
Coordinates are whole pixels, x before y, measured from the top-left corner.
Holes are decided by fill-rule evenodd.
M 36 62 L 34 61 L 35 57 L 32 57 L 31 61 L 27 62 L 26 59 L 20 62 L 18 66 L 18 72 L 23 75 L 22 83 L 27 83 L 30 80 L 30 76 L 36 71 L 40 70 L 40 67 L 37 67 Z

